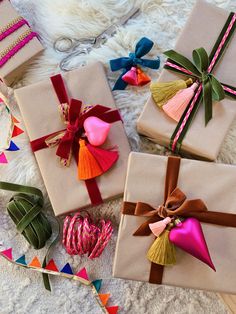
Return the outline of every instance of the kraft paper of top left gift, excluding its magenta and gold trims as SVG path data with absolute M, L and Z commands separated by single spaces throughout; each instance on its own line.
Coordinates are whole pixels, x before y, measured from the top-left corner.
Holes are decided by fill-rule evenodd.
M 10 1 L 3 0 L 0 2 L 0 29 L 5 27 L 9 22 L 17 18 L 19 14 L 11 5 Z M 29 27 L 22 26 L 14 33 L 10 34 L 0 42 L 0 51 L 4 51 L 13 43 L 20 35 L 22 35 Z M 28 44 L 20 49 L 12 58 L 10 58 L 2 67 L 0 67 L 0 78 L 6 85 L 11 85 L 15 80 L 19 79 L 23 74 L 29 62 L 33 60 L 40 52 L 43 46 L 37 37 L 34 37 Z

